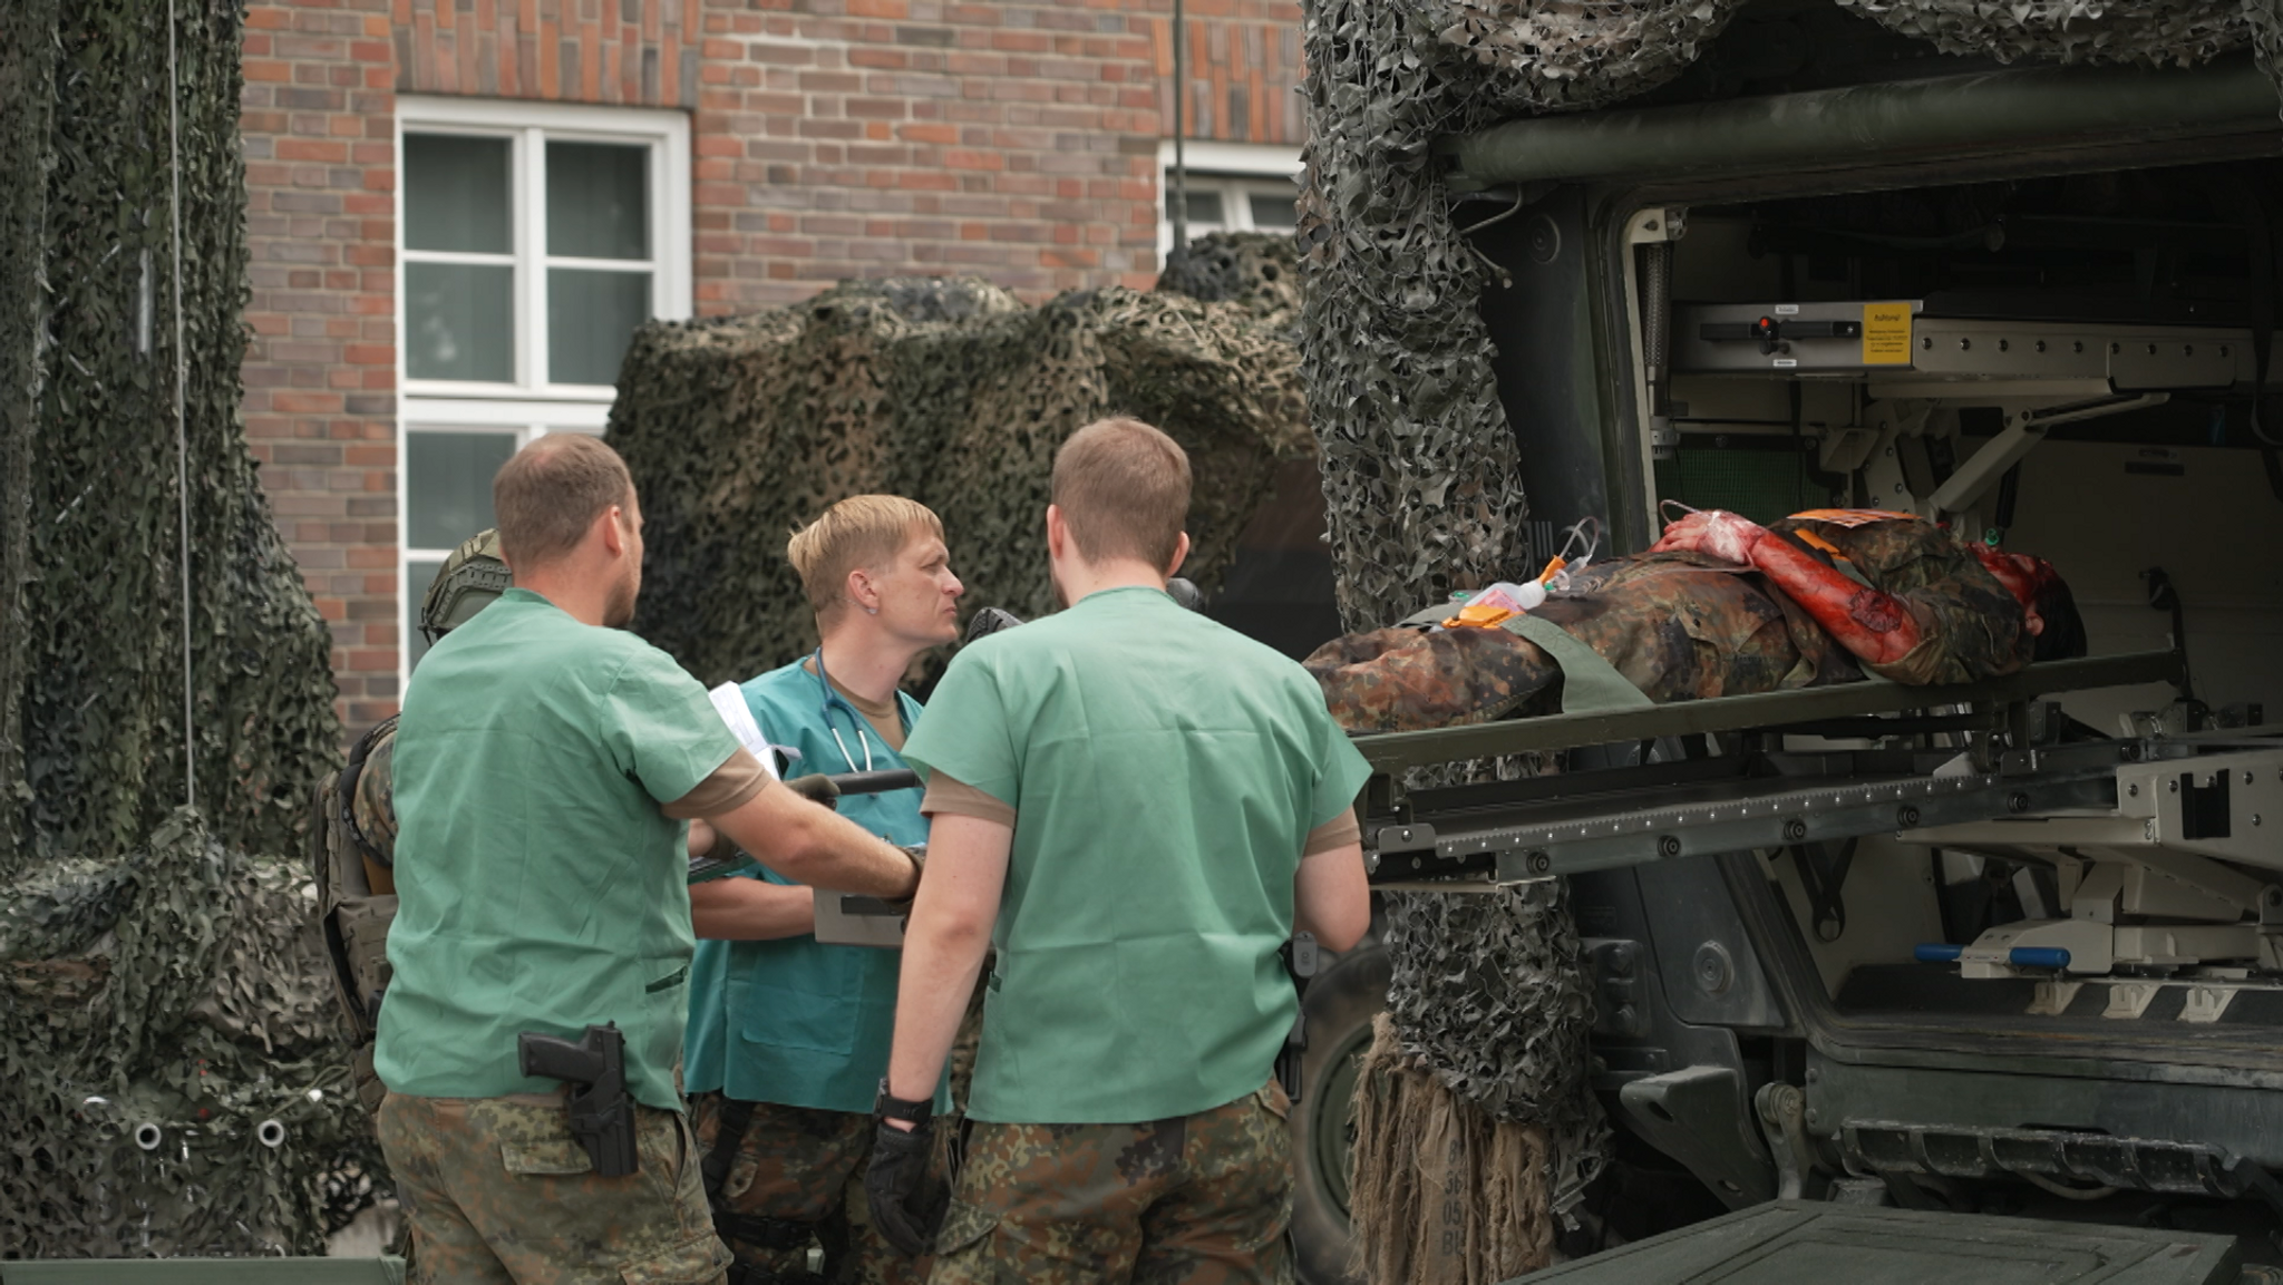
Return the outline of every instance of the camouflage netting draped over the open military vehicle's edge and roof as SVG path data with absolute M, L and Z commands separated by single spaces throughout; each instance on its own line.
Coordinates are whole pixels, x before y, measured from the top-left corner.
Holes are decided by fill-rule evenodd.
M 2283 57 L 2276 0 L 1836 2 L 1998 59 L 2180 64 L 2246 41 L 2269 68 Z M 1477 313 L 1486 265 L 1457 233 L 1429 146 L 1655 89 L 1737 9 L 1742 0 L 1304 0 L 1301 367 L 1349 630 L 1534 571 L 1518 564 L 1527 502 L 1516 429 Z M 1543 1125 L 1552 1146 L 1536 1196 L 1559 1201 L 1598 1169 L 1607 1137 L 1582 1093 L 1591 1009 L 1562 895 L 1393 897 L 1390 922 L 1402 1054 L 1491 1118 Z M 1358 1148 L 1361 1169 L 1386 1159 L 1372 1148 L 1399 1143 L 1365 1134 Z M 1368 1253 L 1381 1248 L 1374 1237 L 1406 1235 L 1406 1196 L 1386 1196 L 1358 1207 Z M 1411 1271 L 1425 1278 L 1418 1262 Z

